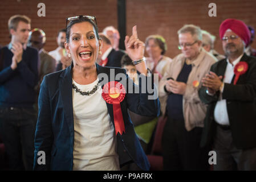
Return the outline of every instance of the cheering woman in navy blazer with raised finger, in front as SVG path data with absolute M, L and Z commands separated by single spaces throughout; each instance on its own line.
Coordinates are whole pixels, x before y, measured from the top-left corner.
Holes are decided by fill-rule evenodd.
M 96 64 L 101 40 L 95 16 L 79 15 L 68 21 L 65 48 L 72 65 L 45 76 L 40 87 L 34 169 L 120 170 L 133 162 L 148 170 L 127 110 L 157 116 L 158 98 L 149 100 L 153 93 L 142 93 L 141 81 L 139 93 L 128 92 L 131 79 L 124 69 Z M 141 77 L 151 80 L 153 88 L 136 26 L 132 36 L 125 37 L 125 47 Z

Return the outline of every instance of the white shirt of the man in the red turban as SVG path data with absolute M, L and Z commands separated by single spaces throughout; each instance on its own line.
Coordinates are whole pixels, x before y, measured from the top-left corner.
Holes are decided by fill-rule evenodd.
M 242 56 L 243 55 L 239 56 L 236 60 L 233 61 L 232 64 L 227 59 L 227 67 L 226 67 L 224 80 L 223 80 L 224 83 L 227 83 L 227 84 L 231 83 L 232 78 L 234 77 L 234 67 L 240 61 Z M 217 104 L 214 109 L 214 119 L 220 125 L 229 125 L 229 115 L 227 114 L 226 100 L 225 99 L 222 100 L 222 92 L 224 90 L 224 86 L 221 90 L 219 100 L 217 101 Z

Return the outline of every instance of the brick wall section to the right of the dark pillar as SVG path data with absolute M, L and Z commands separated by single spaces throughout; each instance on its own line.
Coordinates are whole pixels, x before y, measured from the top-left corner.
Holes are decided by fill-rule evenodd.
M 209 17 L 209 3 L 216 3 L 217 16 Z M 236 18 L 243 20 L 256 29 L 256 1 L 247 0 L 128 0 L 127 34 L 137 24 L 139 38 L 145 40 L 148 35 L 160 34 L 168 44 L 166 55 L 170 57 L 180 53 L 177 48 L 177 31 L 184 24 L 196 24 L 216 36 L 216 50 L 220 53 L 222 45 L 218 30 L 223 20 Z M 256 40 L 253 43 L 256 47 Z

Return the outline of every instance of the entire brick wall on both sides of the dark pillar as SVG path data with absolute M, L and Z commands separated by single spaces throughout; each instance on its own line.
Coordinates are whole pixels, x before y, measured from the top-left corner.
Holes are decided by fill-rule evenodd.
M 38 3 L 46 5 L 46 16 L 38 17 Z M 217 17 L 208 16 L 208 5 L 217 5 Z M 186 23 L 200 26 L 216 35 L 216 50 L 223 53 L 218 28 L 226 18 L 237 18 L 256 28 L 254 0 L 127 0 L 127 34 L 131 35 L 132 26 L 137 24 L 139 38 L 160 34 L 168 43 L 167 56 L 174 57 L 177 49 L 177 31 Z M 56 34 L 66 25 L 66 17 L 77 14 L 92 14 L 97 18 L 99 31 L 105 26 L 117 27 L 117 0 L 1 0 L 0 6 L 0 44 L 10 42 L 7 21 L 11 15 L 25 14 L 32 20 L 31 28 L 42 28 L 46 32 L 45 49 L 57 47 Z M 253 44 L 256 47 L 256 40 Z

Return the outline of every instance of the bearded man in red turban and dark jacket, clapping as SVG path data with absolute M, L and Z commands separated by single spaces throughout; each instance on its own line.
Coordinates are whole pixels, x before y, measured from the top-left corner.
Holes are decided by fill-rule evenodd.
M 213 145 L 214 170 L 256 170 L 256 59 L 245 53 L 250 31 L 226 19 L 220 38 L 226 59 L 212 65 L 199 92 L 209 104 L 201 145 Z

